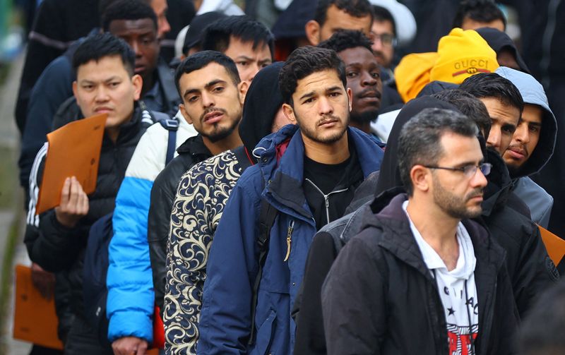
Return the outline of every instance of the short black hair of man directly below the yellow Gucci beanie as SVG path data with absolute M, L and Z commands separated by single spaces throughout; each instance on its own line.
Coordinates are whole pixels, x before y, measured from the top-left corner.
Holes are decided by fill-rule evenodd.
M 520 112 L 524 110 L 524 101 L 516 85 L 496 73 L 478 73 L 470 76 L 459 85 L 459 88 L 479 99 L 494 97 L 505 106 L 516 107 Z

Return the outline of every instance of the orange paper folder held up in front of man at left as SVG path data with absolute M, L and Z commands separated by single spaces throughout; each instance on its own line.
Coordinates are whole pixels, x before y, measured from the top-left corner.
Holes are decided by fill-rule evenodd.
M 88 195 L 96 188 L 98 163 L 107 114 L 66 124 L 47 134 L 47 157 L 35 213 L 57 207 L 67 177 L 76 176 Z

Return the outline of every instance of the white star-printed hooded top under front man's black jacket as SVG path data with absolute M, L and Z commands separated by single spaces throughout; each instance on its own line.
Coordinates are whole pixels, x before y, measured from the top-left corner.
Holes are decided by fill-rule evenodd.
M 455 269 L 448 271 L 444 260 L 422 238 L 420 232 L 410 219 L 406 211 L 408 201 L 403 203 L 403 210 L 410 221 L 410 229 L 422 255 L 424 263 L 436 279 L 437 289 L 441 303 L 444 305 L 446 315 L 447 335 L 450 355 L 475 354 L 472 350 L 470 332 L 475 339 L 479 332 L 479 300 L 477 300 L 477 287 L 475 284 L 475 250 L 467 229 L 463 223 L 457 226 L 457 242 L 459 244 L 459 258 Z

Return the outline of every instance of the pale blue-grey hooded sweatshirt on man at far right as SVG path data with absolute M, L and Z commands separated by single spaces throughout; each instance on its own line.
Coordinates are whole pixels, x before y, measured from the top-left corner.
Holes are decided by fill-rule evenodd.
M 552 157 L 557 137 L 557 121 L 552 110 L 549 109 L 547 96 L 542 85 L 533 76 L 504 66 L 496 69 L 496 73 L 516 85 L 516 88 L 518 88 L 522 95 L 524 104 L 535 104 L 541 107 L 544 112 L 540 139 L 535 150 L 531 152 L 529 159 L 519 169 L 518 173 L 511 174 L 511 178 L 513 179 L 512 191 L 528 205 L 532 220 L 547 228 L 553 206 L 553 198 L 541 186 L 530 179 L 529 176 L 540 172 L 549 161 L 549 158 Z

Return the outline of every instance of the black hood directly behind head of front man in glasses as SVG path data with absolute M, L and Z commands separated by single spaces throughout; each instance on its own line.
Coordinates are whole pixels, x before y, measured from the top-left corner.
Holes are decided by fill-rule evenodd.
M 388 136 L 386 142 L 379 182 L 376 185 L 377 195 L 390 188 L 403 186 L 400 180 L 400 171 L 398 170 L 398 136 L 400 136 L 400 130 L 406 122 L 410 121 L 412 117 L 427 108 L 451 109 L 452 111 L 459 112 L 452 104 L 429 96 L 418 97 L 405 104 L 403 109 L 398 113 L 393 128 L 391 129 L 391 134 Z

